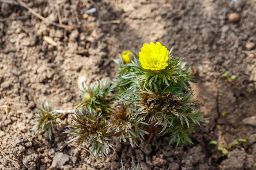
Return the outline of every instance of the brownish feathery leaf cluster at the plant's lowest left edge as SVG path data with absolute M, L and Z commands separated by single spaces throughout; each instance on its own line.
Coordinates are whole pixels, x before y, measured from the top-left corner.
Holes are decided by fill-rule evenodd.
M 103 162 L 101 157 L 106 157 L 112 148 L 109 143 L 108 127 L 105 119 L 102 119 L 101 113 L 95 113 L 95 110 L 82 106 L 76 108 L 72 115 L 72 124 L 67 126 L 65 133 L 72 135 L 75 138 L 77 145 L 85 143 L 91 145 L 90 158 L 94 153 L 96 158 Z

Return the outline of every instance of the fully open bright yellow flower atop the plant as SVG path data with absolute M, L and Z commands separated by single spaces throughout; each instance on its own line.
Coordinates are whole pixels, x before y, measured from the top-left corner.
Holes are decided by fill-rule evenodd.
M 169 51 L 160 42 L 156 42 L 156 44 L 153 42 L 150 42 L 150 44 L 144 43 L 140 49 L 139 62 L 142 68 L 160 71 L 168 66 Z

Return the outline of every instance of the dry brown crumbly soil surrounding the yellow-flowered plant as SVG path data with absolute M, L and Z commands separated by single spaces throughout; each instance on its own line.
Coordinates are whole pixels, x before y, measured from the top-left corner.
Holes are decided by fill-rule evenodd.
M 1 170 L 116 170 L 121 159 L 131 165 L 131 154 L 142 170 L 256 169 L 256 0 L 24 0 L 44 21 L 18 1 L 0 2 Z M 83 15 L 94 7 L 97 12 Z M 233 12 L 238 22 L 229 21 Z M 191 133 L 194 145 L 169 146 L 170 136 L 156 130 L 150 144 L 139 148 L 117 141 L 101 167 L 95 159 L 88 161 L 83 148 L 60 149 L 70 139 L 62 133 L 70 115 L 52 141 L 46 132 L 31 131 L 43 102 L 63 110 L 75 106 L 82 68 L 88 84 L 113 78 L 113 59 L 151 41 L 174 46 L 174 55 L 186 57 L 197 71 L 192 88 L 204 117 L 211 119 Z M 222 77 L 225 72 L 236 79 Z M 247 142 L 229 149 L 239 139 Z M 209 144 L 212 140 L 217 146 Z M 218 151 L 220 145 L 227 156 Z

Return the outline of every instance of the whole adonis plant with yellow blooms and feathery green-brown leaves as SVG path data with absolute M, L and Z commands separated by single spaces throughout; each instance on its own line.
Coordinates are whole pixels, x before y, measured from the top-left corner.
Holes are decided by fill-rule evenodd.
M 170 136 L 169 144 L 193 143 L 189 132 L 206 118 L 202 118 L 199 102 L 189 87 L 193 72 L 181 57 L 172 55 L 172 50 L 160 42 L 150 42 L 143 44 L 139 53 L 123 51 L 115 60 L 119 65 L 115 79 L 79 86 L 81 100 L 65 133 L 77 145 L 91 146 L 90 159 L 95 156 L 103 162 L 102 158 L 114 147 L 113 136 L 120 142 L 128 141 L 132 147 L 138 146 L 146 135 L 153 135 L 155 126 L 160 127 L 159 133 Z M 41 109 L 37 115 L 35 130 L 47 128 L 48 124 L 50 132 L 54 121 L 59 122 L 57 114 L 43 116 L 47 110 L 51 108 Z

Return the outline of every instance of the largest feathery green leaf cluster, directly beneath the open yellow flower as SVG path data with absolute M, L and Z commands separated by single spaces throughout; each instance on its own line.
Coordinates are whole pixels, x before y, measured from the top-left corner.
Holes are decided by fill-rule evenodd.
M 193 82 L 190 66 L 185 67 L 182 58 L 173 57 L 171 51 L 164 70 L 145 70 L 138 57 L 134 57 L 130 64 L 121 64 L 116 79 L 119 80 L 117 86 L 125 85 L 119 88 L 119 102 L 134 108 L 137 121 L 161 125 L 162 135 L 171 132 L 170 144 L 176 142 L 178 146 L 186 141 L 192 143 L 189 132 L 195 124 L 200 125 L 200 121 L 206 119 L 202 118 L 197 108 L 200 102 L 189 88 L 189 83 Z

